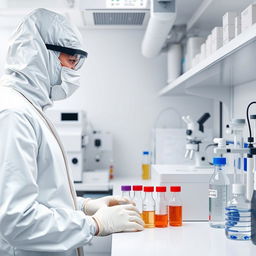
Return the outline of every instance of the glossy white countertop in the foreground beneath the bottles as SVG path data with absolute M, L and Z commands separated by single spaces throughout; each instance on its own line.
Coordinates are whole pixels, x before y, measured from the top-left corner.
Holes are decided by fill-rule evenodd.
M 112 256 L 255 256 L 251 241 L 232 241 L 224 229 L 208 222 L 185 222 L 182 227 L 152 228 L 112 236 Z

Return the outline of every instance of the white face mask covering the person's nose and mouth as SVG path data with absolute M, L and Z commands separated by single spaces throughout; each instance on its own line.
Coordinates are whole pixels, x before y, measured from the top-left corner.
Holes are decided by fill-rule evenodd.
M 61 84 L 51 87 L 50 98 L 55 100 L 63 100 L 71 96 L 80 86 L 80 74 L 70 68 L 61 68 Z

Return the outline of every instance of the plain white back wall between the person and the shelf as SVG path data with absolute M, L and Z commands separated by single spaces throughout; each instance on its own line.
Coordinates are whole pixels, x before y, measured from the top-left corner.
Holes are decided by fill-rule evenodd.
M 0 30 L 1 31 L 1 30 Z M 6 32 L 8 33 L 8 32 Z M 0 56 L 6 44 L 0 32 Z M 151 129 L 158 113 L 171 107 L 180 115 L 198 119 L 204 112 L 212 113 L 212 101 L 197 97 L 158 97 L 167 78 L 166 56 L 146 59 L 140 46 L 143 31 L 83 31 L 89 53 L 82 69 L 81 88 L 56 108 L 84 109 L 95 129 L 114 136 L 115 175 L 140 174 L 141 152 L 149 149 Z M 4 37 L 2 36 L 4 34 Z M 0 59 L 2 73 L 2 58 Z M 179 127 L 175 111 L 166 111 L 158 126 Z M 212 121 L 206 127 L 211 127 Z

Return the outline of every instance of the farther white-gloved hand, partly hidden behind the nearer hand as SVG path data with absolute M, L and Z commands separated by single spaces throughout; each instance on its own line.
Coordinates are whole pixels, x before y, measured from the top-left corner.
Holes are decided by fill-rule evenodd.
M 120 196 L 105 196 L 98 199 L 89 199 L 85 201 L 83 211 L 87 215 L 93 215 L 103 206 L 114 206 L 119 204 L 134 204 L 135 203 L 128 198 Z

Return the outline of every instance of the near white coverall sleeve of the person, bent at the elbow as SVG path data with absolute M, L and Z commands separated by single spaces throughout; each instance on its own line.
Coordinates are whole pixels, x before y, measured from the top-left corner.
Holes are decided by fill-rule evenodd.
M 37 201 L 35 130 L 18 111 L 0 112 L 0 235 L 21 250 L 63 252 L 84 245 L 95 222 L 82 211 Z

